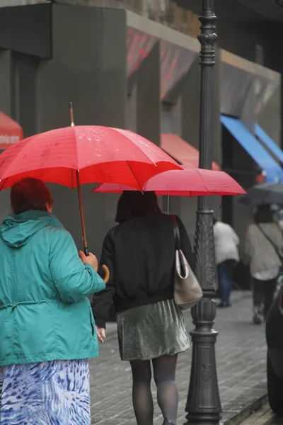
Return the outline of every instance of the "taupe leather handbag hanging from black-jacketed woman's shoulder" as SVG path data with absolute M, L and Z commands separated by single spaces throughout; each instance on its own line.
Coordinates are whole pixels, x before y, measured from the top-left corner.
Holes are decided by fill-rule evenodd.
M 200 283 L 198 283 L 192 268 L 190 268 L 190 264 L 183 254 L 177 217 L 171 215 L 171 218 L 176 249 L 174 300 L 182 310 L 187 310 L 202 299 L 202 288 L 200 288 Z

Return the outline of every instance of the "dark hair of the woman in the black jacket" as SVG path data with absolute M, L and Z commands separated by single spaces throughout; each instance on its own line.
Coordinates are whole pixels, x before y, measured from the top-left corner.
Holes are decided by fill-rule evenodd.
M 117 203 L 115 221 L 122 223 L 151 212 L 161 212 L 155 192 L 124 191 Z

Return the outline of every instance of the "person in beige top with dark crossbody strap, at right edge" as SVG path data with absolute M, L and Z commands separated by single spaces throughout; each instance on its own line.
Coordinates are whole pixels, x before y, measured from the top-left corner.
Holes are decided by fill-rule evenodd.
M 253 278 L 253 322 L 261 324 L 272 305 L 279 268 L 282 266 L 283 236 L 269 205 L 258 207 L 246 234 L 245 256 Z

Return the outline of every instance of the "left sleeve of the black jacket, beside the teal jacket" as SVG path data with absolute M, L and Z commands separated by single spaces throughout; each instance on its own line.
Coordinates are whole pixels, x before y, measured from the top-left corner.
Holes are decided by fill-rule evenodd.
M 115 295 L 115 256 L 114 256 L 114 241 L 112 234 L 108 233 L 104 239 L 102 252 L 100 256 L 100 269 L 105 264 L 110 271 L 110 279 L 105 290 L 93 295 L 93 317 L 96 320 L 98 327 L 105 328 L 108 320 L 109 310 Z

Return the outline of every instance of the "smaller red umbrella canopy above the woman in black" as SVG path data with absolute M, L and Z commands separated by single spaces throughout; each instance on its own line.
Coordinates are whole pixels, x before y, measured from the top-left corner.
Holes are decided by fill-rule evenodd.
M 132 191 L 127 186 L 102 183 L 94 193 L 122 193 Z M 203 196 L 203 195 L 239 195 L 246 193 L 243 188 L 224 171 L 205 169 L 183 169 L 166 171 L 147 181 L 143 191 L 155 191 L 156 195 Z

